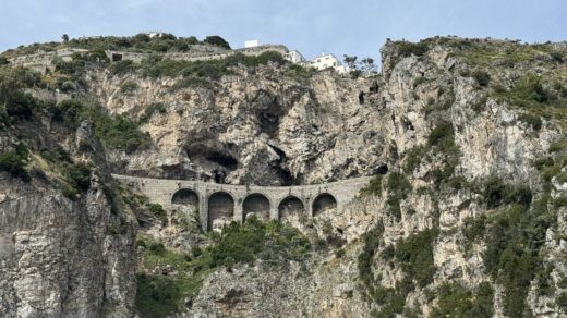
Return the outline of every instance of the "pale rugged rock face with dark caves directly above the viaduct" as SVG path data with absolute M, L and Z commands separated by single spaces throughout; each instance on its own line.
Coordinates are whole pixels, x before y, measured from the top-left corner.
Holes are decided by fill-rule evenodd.
M 291 185 L 370 175 L 386 163 L 381 113 L 359 103 L 369 80 L 330 72 L 294 80 L 258 66 L 214 88 L 171 91 L 172 80 L 134 78 L 140 94 L 123 96 L 117 89 L 132 78 L 100 76 L 94 89 L 110 111 L 136 118 L 146 105 L 167 108 L 143 126 L 154 149 L 111 156 L 122 173 Z

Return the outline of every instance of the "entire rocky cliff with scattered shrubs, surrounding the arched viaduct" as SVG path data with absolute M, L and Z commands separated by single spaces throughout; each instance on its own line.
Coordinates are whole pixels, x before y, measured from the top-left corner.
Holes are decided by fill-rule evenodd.
M 388 41 L 382 72 L 364 76 L 277 53 L 83 53 L 41 76 L 2 66 L 21 94 L 2 91 L 0 313 L 566 315 L 566 52 Z M 196 211 L 157 206 L 109 171 L 258 185 L 375 178 L 343 210 L 203 233 Z

